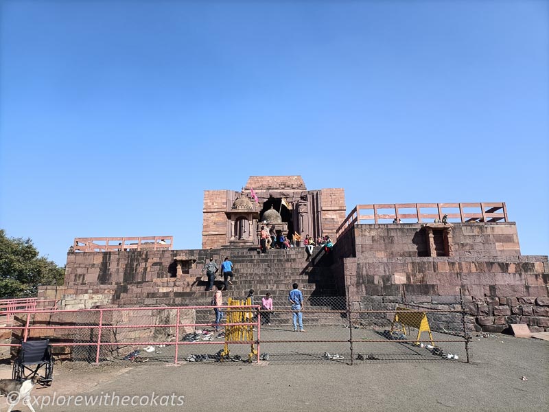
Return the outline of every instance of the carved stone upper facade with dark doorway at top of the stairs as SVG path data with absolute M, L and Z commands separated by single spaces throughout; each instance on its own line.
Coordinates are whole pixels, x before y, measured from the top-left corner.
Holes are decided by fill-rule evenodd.
M 257 202 L 252 196 L 257 196 Z M 346 216 L 343 189 L 307 190 L 301 176 L 250 176 L 242 192 L 206 190 L 204 192 L 202 247 L 218 248 L 234 244 L 240 238 L 235 227 L 237 219 L 233 205 L 237 198 L 246 196 L 253 204 L 257 217 L 246 216 L 250 232 L 246 242 L 257 244 L 257 229 L 264 214 L 274 209 L 287 227 L 286 236 L 298 233 L 316 238 L 336 236 L 336 230 Z M 242 201 L 241 201 L 242 202 Z M 255 227 L 254 227 L 255 225 Z M 242 239 L 241 239 L 242 240 Z

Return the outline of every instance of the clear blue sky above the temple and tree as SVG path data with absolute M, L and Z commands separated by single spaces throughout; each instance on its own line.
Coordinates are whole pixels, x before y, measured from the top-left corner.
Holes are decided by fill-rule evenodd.
M 505 201 L 549 253 L 546 1 L 0 1 L 0 227 L 199 248 L 204 190 Z

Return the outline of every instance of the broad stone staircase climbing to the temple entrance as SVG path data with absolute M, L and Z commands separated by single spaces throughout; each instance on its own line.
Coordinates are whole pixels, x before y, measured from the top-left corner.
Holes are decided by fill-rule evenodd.
M 228 297 L 244 299 L 250 288 L 254 289 L 259 301 L 266 293 L 270 293 L 274 301 L 283 300 L 292 289 L 292 284 L 299 288 L 306 297 L 331 297 L 337 295 L 336 279 L 329 269 L 329 257 L 318 253 L 309 262 L 305 260 L 305 248 L 285 250 L 272 249 L 260 254 L 255 249 L 217 249 L 204 251 L 213 255 L 220 265 L 225 256 L 233 262 L 233 285 L 223 292 L 224 300 Z M 181 278 L 163 277 L 152 282 L 118 285 L 113 304 L 120 306 L 139 305 L 199 305 L 209 304 L 212 292 L 207 292 L 207 277 L 200 276 L 203 261 L 196 264 L 189 274 Z M 222 284 L 220 272 L 215 284 Z M 318 301 L 322 305 L 322 301 Z

